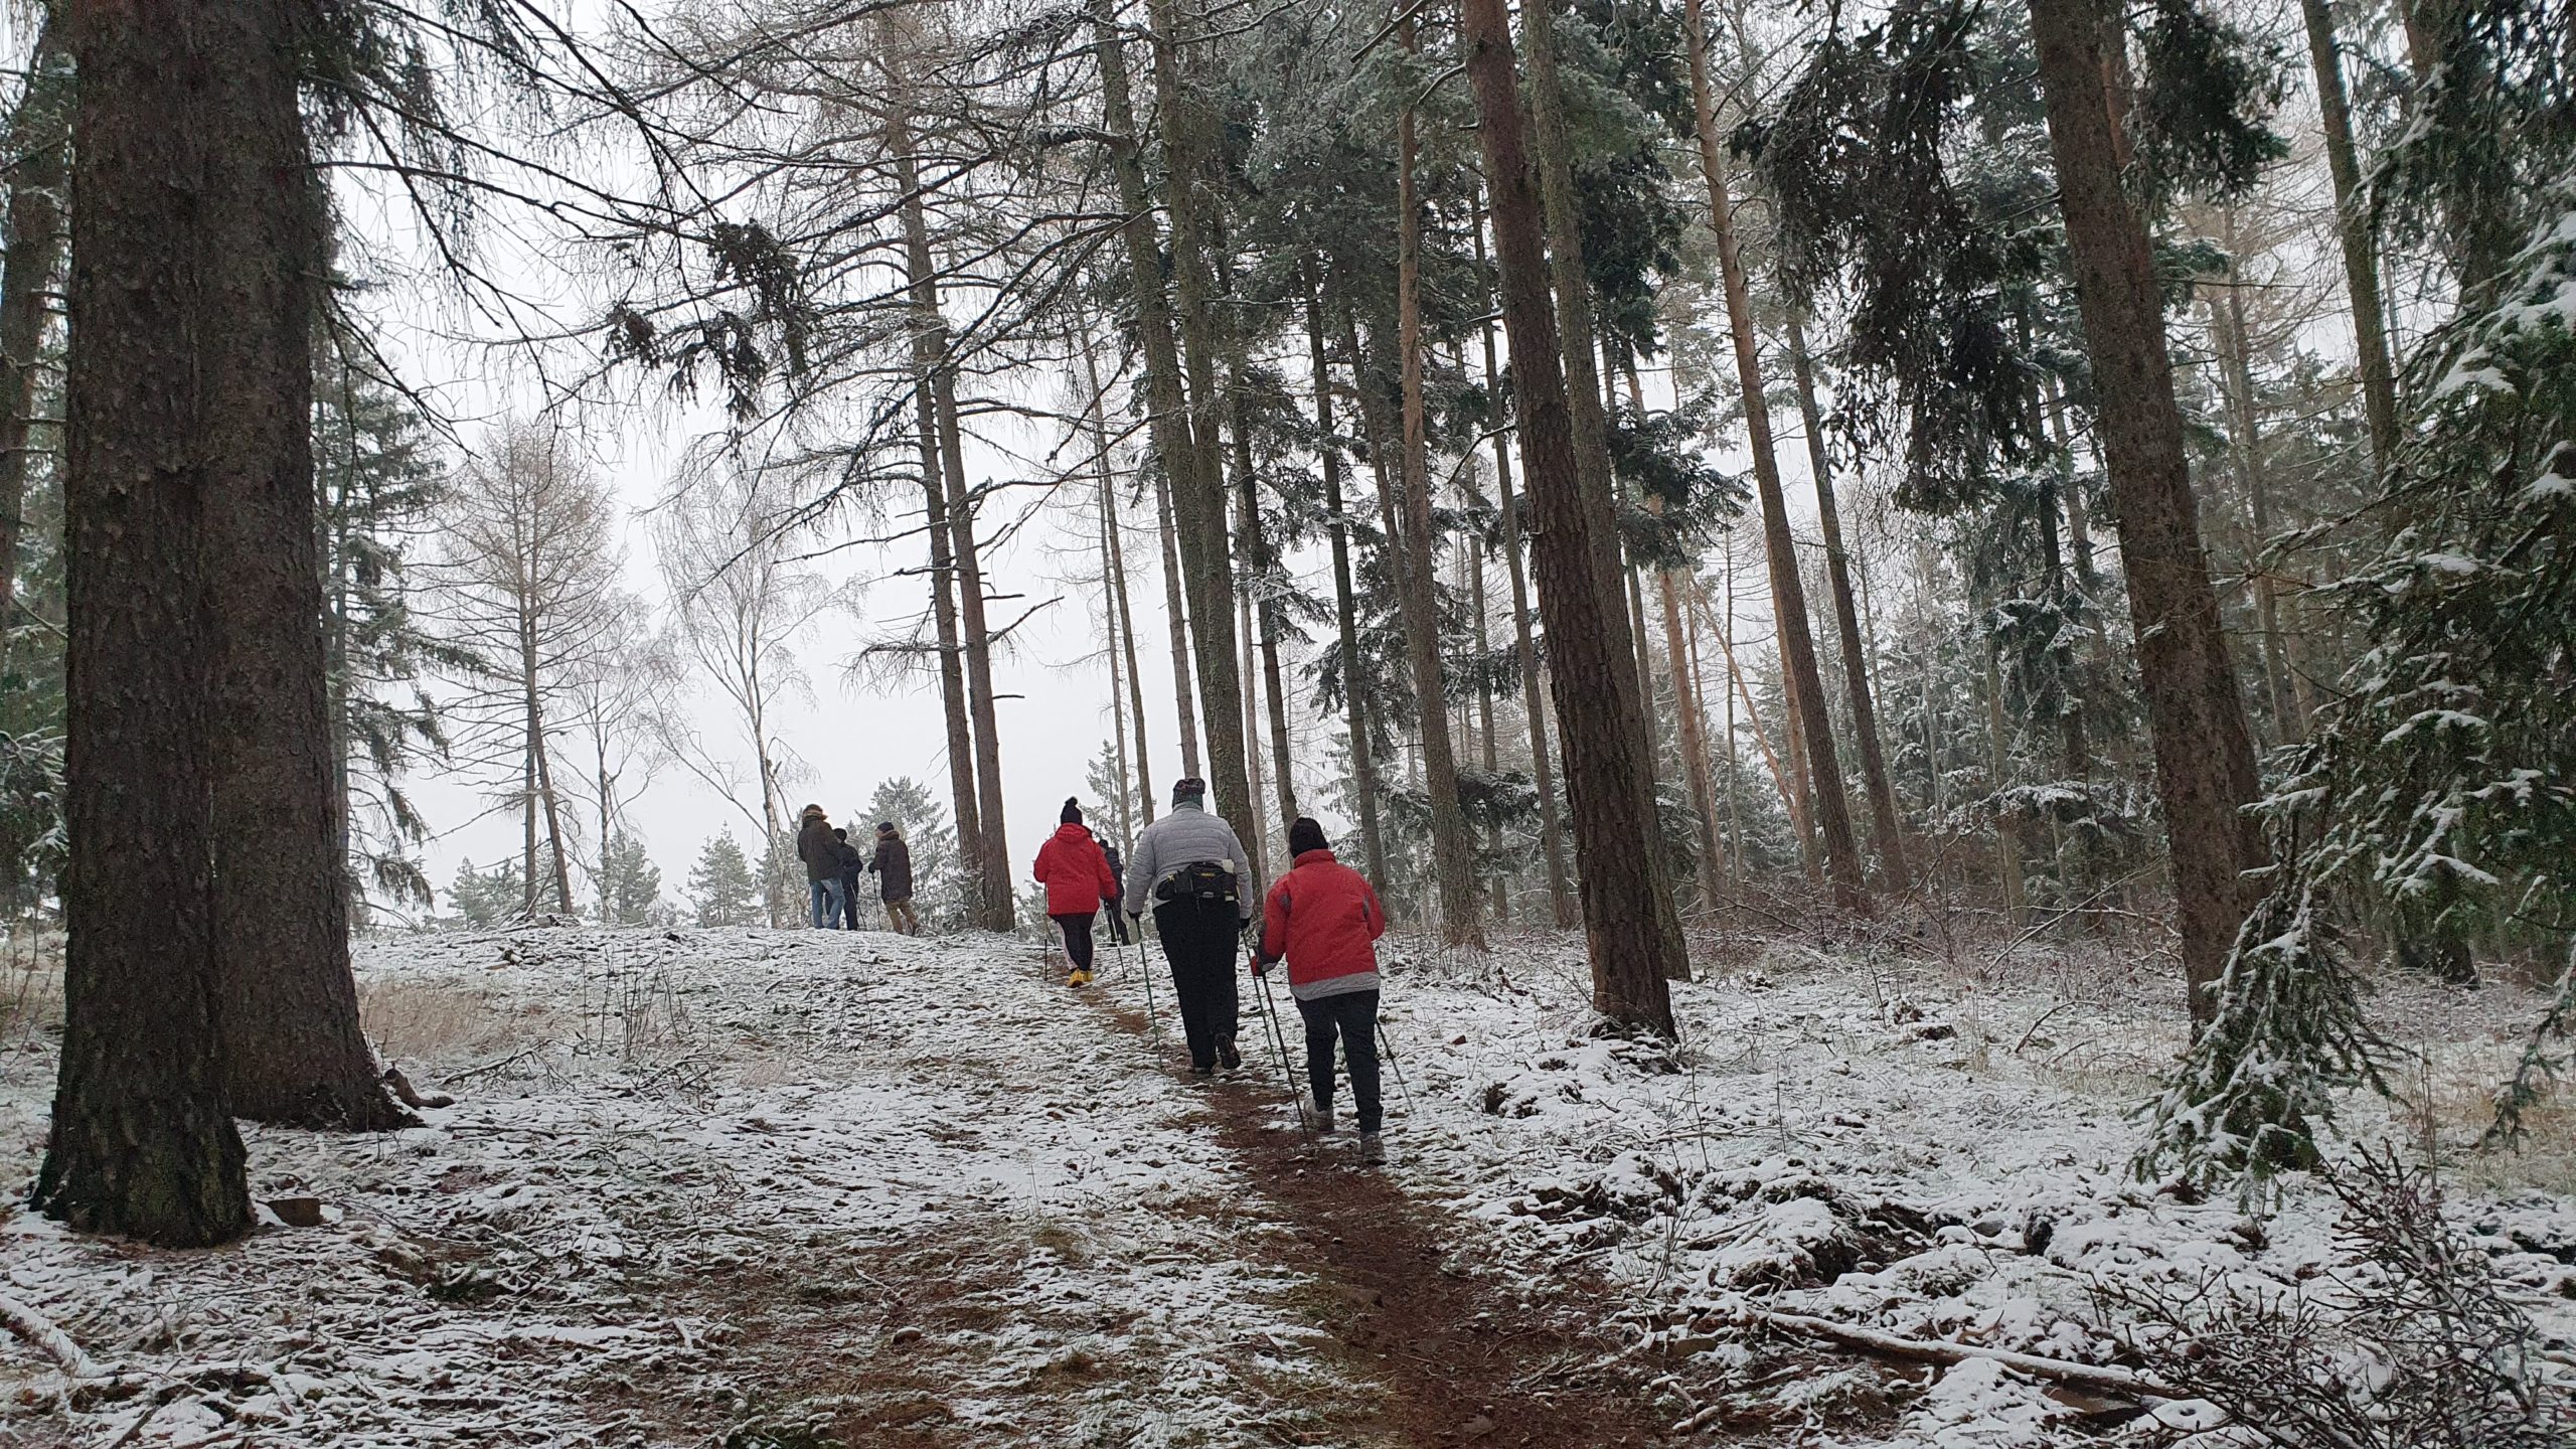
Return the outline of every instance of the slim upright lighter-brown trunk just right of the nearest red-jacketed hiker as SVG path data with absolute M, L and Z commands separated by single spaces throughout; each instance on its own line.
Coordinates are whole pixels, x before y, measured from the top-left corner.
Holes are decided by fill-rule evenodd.
M 1414 23 L 1396 23 L 1414 52 Z M 1404 606 L 1404 652 L 1422 701 L 1422 773 L 1432 804 L 1432 879 L 1440 884 L 1440 936 L 1484 938 L 1476 895 L 1476 848 L 1458 807 L 1458 755 L 1448 730 L 1448 678 L 1440 668 L 1440 598 L 1432 554 L 1430 433 L 1422 407 L 1422 199 L 1414 188 L 1414 108 L 1396 111 L 1396 369 L 1404 392 L 1404 547 L 1396 596 Z

